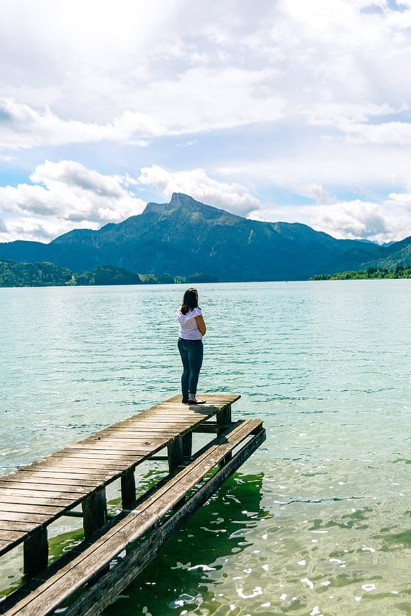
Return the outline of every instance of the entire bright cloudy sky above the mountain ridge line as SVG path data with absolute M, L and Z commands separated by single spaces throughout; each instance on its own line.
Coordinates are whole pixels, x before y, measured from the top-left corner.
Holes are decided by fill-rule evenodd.
M 0 242 L 173 192 L 411 235 L 411 0 L 0 0 Z

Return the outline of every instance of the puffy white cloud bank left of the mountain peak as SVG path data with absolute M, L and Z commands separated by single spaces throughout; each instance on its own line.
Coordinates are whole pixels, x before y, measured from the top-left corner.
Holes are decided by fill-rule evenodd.
M 101 175 L 73 161 L 46 161 L 30 179 L 32 184 L 0 187 L 0 211 L 7 215 L 2 241 L 50 240 L 77 227 L 120 222 L 145 207 L 127 190 L 127 178 Z

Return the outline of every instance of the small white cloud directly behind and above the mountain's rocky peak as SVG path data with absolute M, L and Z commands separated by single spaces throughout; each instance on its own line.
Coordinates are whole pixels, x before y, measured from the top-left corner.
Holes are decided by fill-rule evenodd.
M 260 204 L 244 186 L 236 182 L 230 184 L 219 182 L 208 177 L 203 169 L 172 173 L 160 166 L 152 165 L 141 169 L 138 181 L 160 188 L 167 199 L 173 192 L 183 192 L 197 201 L 222 207 L 241 216 Z

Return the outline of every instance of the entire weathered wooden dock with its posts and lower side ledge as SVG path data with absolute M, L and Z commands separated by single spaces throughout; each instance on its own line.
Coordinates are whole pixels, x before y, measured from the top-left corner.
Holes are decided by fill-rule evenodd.
M 261 420 L 232 421 L 238 398 L 175 396 L 0 477 L 0 555 L 23 543 L 26 580 L 0 614 L 101 613 L 265 440 Z M 194 450 L 197 432 L 210 441 Z M 135 470 L 149 460 L 167 461 L 168 474 L 136 499 Z M 118 479 L 123 509 L 108 519 L 105 487 Z M 48 567 L 47 527 L 80 504 L 84 541 Z

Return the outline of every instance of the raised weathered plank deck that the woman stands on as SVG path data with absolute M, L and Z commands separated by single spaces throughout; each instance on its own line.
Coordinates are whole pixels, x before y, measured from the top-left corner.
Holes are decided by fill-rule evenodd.
M 164 447 L 175 452 L 173 441 L 213 415 L 218 423 L 219 415 L 238 398 L 213 394 L 207 396 L 206 405 L 197 407 L 182 405 L 181 396 L 174 396 L 0 477 L 0 555 L 127 473 L 128 481 L 124 480 L 122 485 L 126 502 L 131 502 L 130 471 Z M 186 451 L 188 441 L 184 440 Z M 171 465 L 177 464 L 178 459 L 178 455 L 173 457 Z M 92 522 L 90 528 L 100 522 Z

